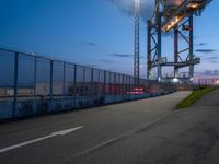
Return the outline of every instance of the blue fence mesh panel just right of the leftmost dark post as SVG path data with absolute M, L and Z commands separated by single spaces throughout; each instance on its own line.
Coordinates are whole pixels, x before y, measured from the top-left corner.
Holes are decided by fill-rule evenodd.
M 36 113 L 35 103 L 35 57 L 18 55 L 18 102 L 14 115 L 31 116 Z

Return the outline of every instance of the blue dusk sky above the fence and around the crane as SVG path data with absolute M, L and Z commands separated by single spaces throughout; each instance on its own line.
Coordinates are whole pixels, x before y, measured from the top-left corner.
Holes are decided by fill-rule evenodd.
M 25 52 L 132 74 L 134 0 L 0 0 L 0 45 Z M 152 0 L 141 0 L 141 77 L 146 78 L 146 20 Z M 219 70 L 219 1 L 194 20 L 196 73 Z M 165 37 L 163 52 L 172 57 Z M 216 71 L 215 71 L 216 72 Z

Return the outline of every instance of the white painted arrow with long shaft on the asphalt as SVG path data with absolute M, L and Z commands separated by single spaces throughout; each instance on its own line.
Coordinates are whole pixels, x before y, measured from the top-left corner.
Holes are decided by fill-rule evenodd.
M 56 136 L 66 136 L 66 134 L 68 134 L 70 132 L 79 130 L 79 129 L 81 129 L 84 126 L 80 126 L 80 127 L 76 127 L 76 128 L 71 128 L 71 129 L 66 129 L 66 130 L 61 130 L 61 131 L 51 132 L 50 134 L 42 137 L 42 138 L 37 138 L 37 139 L 34 139 L 34 140 L 30 140 L 30 141 L 26 141 L 26 142 L 19 143 L 19 144 L 14 144 L 14 145 L 10 145 L 10 147 L 7 147 L 7 148 L 2 148 L 2 149 L 0 149 L 0 153 L 8 152 L 8 151 L 11 151 L 11 150 L 14 150 L 14 149 L 27 145 L 27 144 L 32 144 L 32 143 L 35 143 L 35 142 L 38 142 L 38 141 L 42 141 L 42 140 L 46 140 L 46 139 L 49 139 L 49 138 L 53 138 L 53 137 L 56 137 Z

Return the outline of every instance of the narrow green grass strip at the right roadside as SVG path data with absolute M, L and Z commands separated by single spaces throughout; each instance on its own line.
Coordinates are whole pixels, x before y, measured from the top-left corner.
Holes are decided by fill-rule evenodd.
M 187 96 L 184 101 L 176 105 L 175 109 L 182 109 L 192 106 L 195 102 L 200 99 L 204 95 L 215 91 L 217 87 L 204 87 L 193 91 L 193 93 Z

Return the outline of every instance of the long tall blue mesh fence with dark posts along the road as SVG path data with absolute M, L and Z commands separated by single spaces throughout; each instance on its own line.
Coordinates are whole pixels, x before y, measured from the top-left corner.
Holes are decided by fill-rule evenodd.
M 175 85 L 0 49 L 0 119 L 168 94 Z

